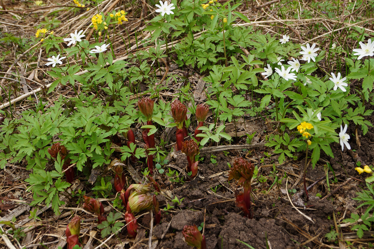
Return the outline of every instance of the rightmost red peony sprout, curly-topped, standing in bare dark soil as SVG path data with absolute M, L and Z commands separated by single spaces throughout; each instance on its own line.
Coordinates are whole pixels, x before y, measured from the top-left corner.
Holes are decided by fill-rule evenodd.
M 241 208 L 246 217 L 252 218 L 251 211 L 251 179 L 254 166 L 243 158 L 236 158 L 229 172 L 229 180 L 235 179 L 243 187 L 244 193 L 236 196 L 236 204 Z

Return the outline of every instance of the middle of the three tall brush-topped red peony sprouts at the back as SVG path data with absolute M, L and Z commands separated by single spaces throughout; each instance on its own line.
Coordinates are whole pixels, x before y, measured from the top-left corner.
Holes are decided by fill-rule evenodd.
M 174 118 L 174 122 L 177 123 L 177 150 L 182 149 L 182 143 L 184 137 L 187 137 L 187 129 L 185 120 L 187 119 L 187 107 L 183 105 L 179 100 L 174 100 L 171 103 L 171 115 Z

